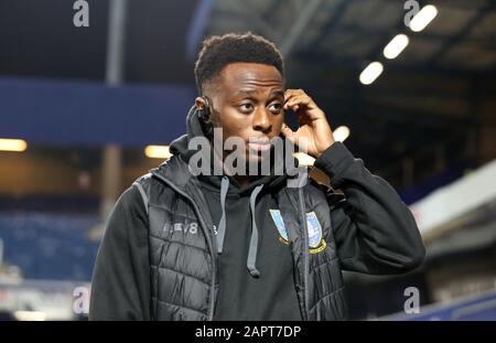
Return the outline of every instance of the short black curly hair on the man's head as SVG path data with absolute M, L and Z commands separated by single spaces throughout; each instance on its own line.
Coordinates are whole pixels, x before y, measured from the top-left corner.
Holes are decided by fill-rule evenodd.
M 273 65 L 284 79 L 284 62 L 272 42 L 251 32 L 213 35 L 203 41 L 195 63 L 200 94 L 203 94 L 204 86 L 217 77 L 225 66 L 236 62 Z

